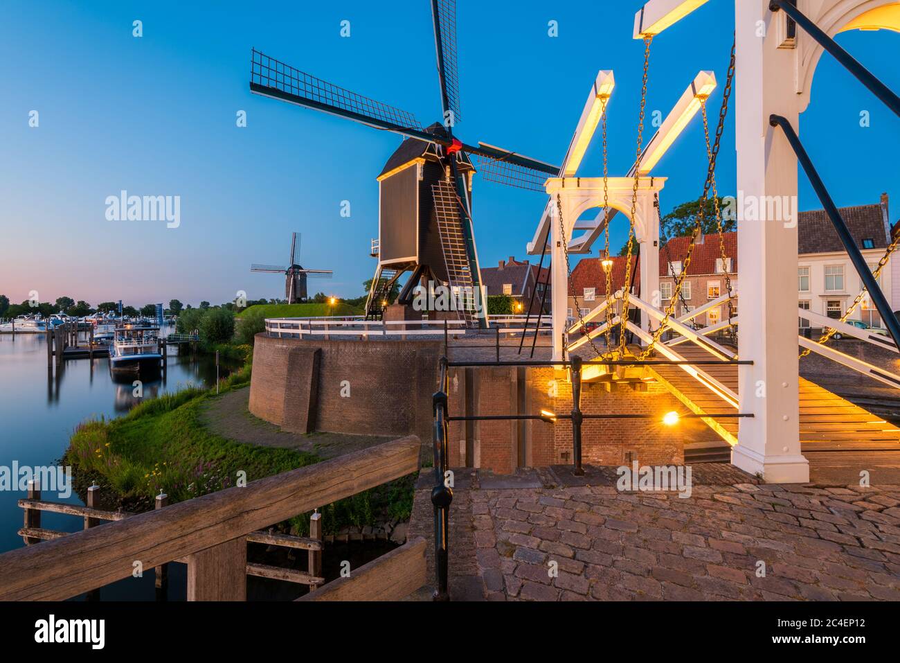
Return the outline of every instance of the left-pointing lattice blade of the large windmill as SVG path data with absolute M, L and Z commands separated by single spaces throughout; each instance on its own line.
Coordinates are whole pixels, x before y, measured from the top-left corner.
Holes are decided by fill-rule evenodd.
M 311 76 L 259 50 L 253 50 L 252 58 L 250 89 L 257 94 L 276 96 L 357 122 L 371 119 L 377 121 L 375 126 L 390 131 L 420 128 L 413 114 L 392 105 Z

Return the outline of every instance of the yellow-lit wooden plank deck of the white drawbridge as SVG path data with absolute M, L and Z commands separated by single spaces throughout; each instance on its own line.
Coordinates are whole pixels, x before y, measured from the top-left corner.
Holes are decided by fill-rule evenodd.
M 694 345 L 682 344 L 676 350 L 685 359 L 716 359 Z M 736 413 L 737 409 L 722 395 L 691 377 L 678 366 L 654 366 L 652 373 L 662 385 L 694 413 Z M 698 367 L 722 385 L 738 391 L 734 364 Z M 778 397 L 769 390 L 769 397 Z M 737 443 L 739 419 L 706 417 L 705 422 L 729 444 Z M 809 380 L 800 378 L 800 442 L 803 452 L 900 451 L 900 429 L 859 405 L 843 399 Z

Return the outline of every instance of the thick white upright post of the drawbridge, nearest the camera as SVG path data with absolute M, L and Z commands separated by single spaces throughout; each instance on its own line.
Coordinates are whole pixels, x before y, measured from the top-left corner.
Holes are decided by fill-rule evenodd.
M 799 440 L 797 158 L 783 132 L 769 124 L 770 114 L 779 114 L 798 126 L 797 51 L 779 49 L 779 17 L 769 0 L 734 5 L 738 282 L 745 322 L 738 339 L 740 358 L 753 361 L 739 367 L 738 391 L 739 412 L 753 417 L 739 420 L 732 462 L 768 482 L 802 483 L 809 480 L 809 464 Z

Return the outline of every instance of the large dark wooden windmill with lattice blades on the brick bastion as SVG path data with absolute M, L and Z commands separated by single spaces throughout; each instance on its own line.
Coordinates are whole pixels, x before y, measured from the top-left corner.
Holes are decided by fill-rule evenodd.
M 313 77 L 254 49 L 250 91 L 368 124 L 406 137 L 378 177 L 380 192 L 378 267 L 366 302 L 366 315 L 382 312 L 385 294 L 411 272 L 401 291 L 410 304 L 413 289 L 428 280 L 479 292 L 482 286 L 472 219 L 470 155 L 492 181 L 544 191 L 559 168 L 483 142 L 455 138 L 462 119 L 456 68 L 455 0 L 430 0 L 437 50 L 437 75 L 444 121 L 423 128 L 415 116 Z M 373 251 L 374 253 L 374 251 Z M 467 290 L 468 289 L 468 290 Z M 467 298 L 468 302 L 472 301 Z M 487 324 L 487 307 L 462 312 Z

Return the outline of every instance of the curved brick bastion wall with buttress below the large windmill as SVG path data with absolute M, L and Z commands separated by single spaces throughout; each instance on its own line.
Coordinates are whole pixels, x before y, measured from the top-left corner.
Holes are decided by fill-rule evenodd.
M 431 440 L 440 341 L 312 341 L 258 334 L 250 412 L 288 431 Z M 349 383 L 349 396 L 341 385 Z

